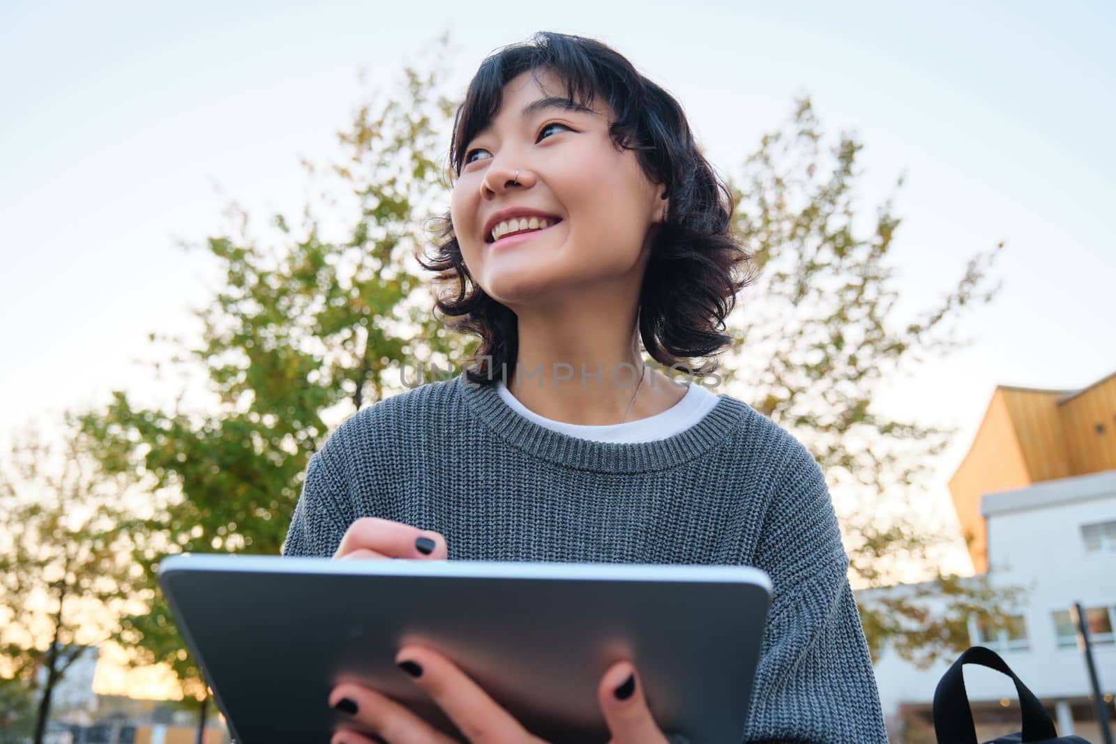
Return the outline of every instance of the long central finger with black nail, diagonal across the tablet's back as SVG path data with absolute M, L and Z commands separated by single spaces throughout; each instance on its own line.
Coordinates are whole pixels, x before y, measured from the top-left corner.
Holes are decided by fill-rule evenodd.
M 411 675 L 471 744 L 542 744 L 441 654 L 420 646 L 406 646 L 395 656 L 395 664 Z M 391 737 L 388 741 L 392 741 Z

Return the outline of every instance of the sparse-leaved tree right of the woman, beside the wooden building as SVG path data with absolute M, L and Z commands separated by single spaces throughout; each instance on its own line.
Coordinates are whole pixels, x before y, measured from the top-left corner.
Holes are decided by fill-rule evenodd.
M 739 332 L 722 377 L 747 383 L 751 405 L 818 460 L 854 584 L 894 584 L 912 566 L 929 579 L 860 602 L 874 656 L 891 640 L 903 657 L 926 665 L 969 645 L 973 612 L 1004 624 L 1008 613 L 997 606 L 1010 605 L 1019 589 L 940 569 L 933 554 L 950 538 L 920 523 L 915 501 L 954 432 L 896 421 L 874 402 L 885 383 L 970 342 L 959 336 L 962 320 L 999 290 L 990 269 L 1003 243 L 974 254 L 936 305 L 897 318 L 893 258 L 902 221 L 892 199 L 874 218 L 857 210 L 864 145 L 849 134 L 829 146 L 825 139 L 810 100 L 801 99 L 787 126 L 762 137 L 731 186 L 734 226 L 761 280 L 734 313 Z M 944 606 L 931 611 L 931 599 Z

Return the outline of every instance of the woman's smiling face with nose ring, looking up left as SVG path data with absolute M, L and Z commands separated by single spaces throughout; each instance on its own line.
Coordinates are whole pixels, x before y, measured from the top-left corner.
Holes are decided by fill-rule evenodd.
M 504 86 L 500 110 L 465 147 L 450 205 L 465 265 L 490 297 L 513 309 L 562 297 L 588 300 L 585 290 L 617 283 L 631 283 L 638 297 L 643 271 L 635 269 L 666 204 L 662 187 L 647 180 L 633 151 L 613 145 L 615 115 L 599 96 L 593 112 L 550 106 L 522 116 L 541 98 L 565 98 L 554 73 L 535 73 L 538 83 L 527 71 Z M 493 245 L 485 225 L 507 207 L 531 207 L 560 222 Z

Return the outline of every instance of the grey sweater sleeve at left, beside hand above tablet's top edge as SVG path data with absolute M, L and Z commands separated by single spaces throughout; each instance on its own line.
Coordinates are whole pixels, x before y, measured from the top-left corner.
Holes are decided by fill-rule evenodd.
M 329 558 L 337 552 L 348 523 L 343 514 L 347 495 L 345 481 L 337 476 L 328 453 L 316 452 L 307 464 L 281 554 Z

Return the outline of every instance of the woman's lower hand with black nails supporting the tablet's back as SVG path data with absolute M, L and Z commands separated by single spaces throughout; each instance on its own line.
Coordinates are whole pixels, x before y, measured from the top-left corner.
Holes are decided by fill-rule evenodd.
M 395 663 L 450 717 L 470 744 L 545 744 L 488 696 L 448 658 L 429 648 L 406 646 Z M 667 744 L 647 709 L 635 668 L 618 661 L 597 686 L 612 744 Z M 362 685 L 345 683 L 329 694 L 329 705 L 391 744 L 456 744 L 395 700 Z M 373 744 L 353 731 L 334 734 L 330 744 Z

